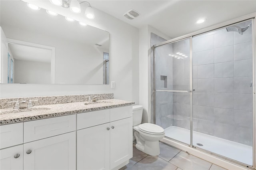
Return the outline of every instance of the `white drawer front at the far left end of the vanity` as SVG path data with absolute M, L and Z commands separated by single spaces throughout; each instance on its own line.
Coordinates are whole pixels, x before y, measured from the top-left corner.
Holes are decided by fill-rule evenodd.
M 23 123 L 0 126 L 0 149 L 23 143 Z

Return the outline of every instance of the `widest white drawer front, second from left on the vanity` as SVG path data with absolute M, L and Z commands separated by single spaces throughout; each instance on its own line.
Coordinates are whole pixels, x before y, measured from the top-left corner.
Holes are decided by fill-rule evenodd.
M 24 122 L 24 143 L 76 130 L 76 115 Z

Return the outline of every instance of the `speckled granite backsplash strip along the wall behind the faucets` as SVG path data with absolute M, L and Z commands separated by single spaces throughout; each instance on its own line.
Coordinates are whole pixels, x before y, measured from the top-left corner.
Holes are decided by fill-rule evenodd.
M 38 105 L 54 105 L 60 103 L 74 103 L 86 101 L 86 97 L 97 96 L 98 100 L 114 99 L 114 93 L 99 93 L 99 94 L 88 94 L 88 95 L 63 95 L 63 96 L 45 96 L 45 97 L 21 97 L 21 98 L 6 98 L 0 99 L 0 109 L 13 108 L 14 103 L 7 103 L 9 101 L 33 101 L 34 106 Z M 88 98 L 87 98 L 88 100 Z

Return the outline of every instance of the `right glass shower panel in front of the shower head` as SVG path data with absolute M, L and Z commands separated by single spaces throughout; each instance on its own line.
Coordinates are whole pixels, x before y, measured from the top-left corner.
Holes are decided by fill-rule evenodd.
M 192 47 L 193 145 L 252 166 L 252 21 L 195 36 Z

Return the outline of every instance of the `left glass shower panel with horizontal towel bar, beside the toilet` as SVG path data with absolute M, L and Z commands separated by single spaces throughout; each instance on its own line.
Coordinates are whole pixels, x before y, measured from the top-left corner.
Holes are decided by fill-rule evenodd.
M 156 125 L 190 144 L 190 38 L 156 47 L 154 69 Z

